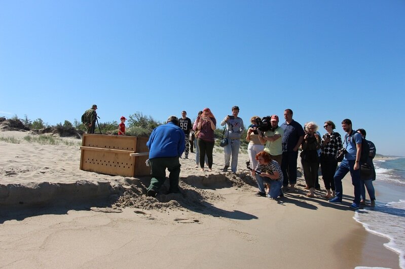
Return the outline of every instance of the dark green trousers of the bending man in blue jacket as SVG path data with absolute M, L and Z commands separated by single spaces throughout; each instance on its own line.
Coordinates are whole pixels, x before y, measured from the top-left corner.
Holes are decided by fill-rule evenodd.
M 158 192 L 166 180 L 166 168 L 169 170 L 169 192 L 178 192 L 178 177 L 180 175 L 180 162 L 178 157 L 153 158 L 151 162 L 151 185 L 148 191 Z

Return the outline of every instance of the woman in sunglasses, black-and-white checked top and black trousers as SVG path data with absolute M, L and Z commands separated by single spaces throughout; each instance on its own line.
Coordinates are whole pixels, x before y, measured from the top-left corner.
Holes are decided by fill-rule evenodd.
M 329 199 L 335 196 L 334 175 L 336 168 L 338 167 L 338 161 L 336 160 L 335 156 L 338 151 L 343 148 L 343 145 L 342 137 L 340 136 L 339 132 L 334 131 L 336 125 L 333 123 L 333 121 L 325 121 L 323 128 L 325 128 L 326 133 L 323 135 L 321 140 L 322 151 L 320 156 L 320 164 L 322 170 L 322 180 L 325 184 L 325 189 L 327 192 L 324 197 Z M 332 193 L 330 193 L 331 189 Z

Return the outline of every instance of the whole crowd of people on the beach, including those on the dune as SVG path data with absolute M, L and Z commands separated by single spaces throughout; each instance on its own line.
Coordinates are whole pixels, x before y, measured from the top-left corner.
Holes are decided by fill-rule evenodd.
M 94 131 L 94 118 L 96 117 L 93 106 L 86 111 L 89 120 L 86 125 Z M 220 125 L 224 126 L 224 168 L 229 168 L 236 173 L 241 135 L 245 129 L 243 120 L 238 116 L 239 107 L 231 108 L 231 115 L 227 115 Z M 360 204 L 365 204 L 365 190 L 369 193 L 371 206 L 375 206 L 375 191 L 373 181 L 376 173 L 373 158 L 376 147 L 371 141 L 365 140 L 364 129 L 352 128 L 350 119 L 342 121 L 345 137 L 335 131 L 336 125 L 330 120 L 324 122 L 325 134 L 318 132 L 315 122 L 307 122 L 302 126 L 292 118 L 291 109 L 284 111 L 285 121 L 279 125 L 279 117 L 272 115 L 267 118 L 270 122 L 266 130 L 261 129 L 263 120 L 259 116 L 250 118 L 247 129 L 246 141 L 249 142 L 247 152 L 249 156 L 248 168 L 257 181 L 258 196 L 279 199 L 284 192 L 295 188 L 297 183 L 297 160 L 299 149 L 300 159 L 306 182 L 307 196 L 315 197 L 314 191 L 320 190 L 318 170 L 321 168 L 322 180 L 326 189 L 324 198 L 330 203 L 342 203 L 342 179 L 350 172 L 354 186 L 354 199 L 350 205 L 357 209 Z M 125 135 L 126 118 L 121 118 L 119 126 L 120 135 Z M 192 123 L 187 117 L 187 112 L 181 112 L 181 118 L 170 116 L 167 123 L 156 127 L 146 144 L 150 149 L 149 163 L 151 166 L 152 180 L 148 188 L 149 196 L 156 196 L 165 181 L 165 171 L 169 170 L 170 193 L 179 192 L 178 177 L 180 174 L 179 158 L 184 153 L 188 159 L 189 152 L 196 148 L 196 168 L 212 171 L 212 152 L 215 143 L 214 130 L 216 118 L 209 108 L 198 112 L 197 118 Z M 192 143 L 191 143 L 192 142 Z M 193 145 L 194 144 L 194 145 Z M 192 145 L 192 146 L 190 146 Z M 339 156 L 340 155 L 340 156 Z M 341 157 L 341 159 L 339 159 Z M 340 164 L 339 164 L 340 162 Z

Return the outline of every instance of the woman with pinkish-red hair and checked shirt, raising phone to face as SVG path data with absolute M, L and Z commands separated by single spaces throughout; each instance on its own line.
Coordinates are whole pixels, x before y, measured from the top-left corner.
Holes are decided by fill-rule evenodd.
M 216 119 L 209 108 L 204 108 L 203 113 L 198 119 L 197 129 L 200 130 L 197 138 L 198 148 L 200 150 L 200 167 L 204 171 L 204 157 L 208 158 L 208 170 L 212 171 L 212 150 L 214 148 L 215 138 L 214 130 L 216 128 Z

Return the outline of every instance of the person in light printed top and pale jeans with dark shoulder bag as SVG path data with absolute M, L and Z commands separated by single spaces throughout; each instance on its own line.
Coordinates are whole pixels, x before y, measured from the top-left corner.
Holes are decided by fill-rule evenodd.
M 239 148 L 240 148 L 240 136 L 242 135 L 243 130 L 245 127 L 243 126 L 243 120 L 238 117 L 239 114 L 239 107 L 233 106 L 232 107 L 232 115 L 228 115 L 224 118 L 221 122 L 221 126 L 227 124 L 226 129 L 227 133 L 225 133 L 225 137 L 228 138 L 228 145 L 224 147 L 225 153 L 225 166 L 223 171 L 227 172 L 232 155 L 232 164 L 231 170 L 232 172 L 236 173 L 236 168 L 238 166 L 238 155 L 239 155 Z

